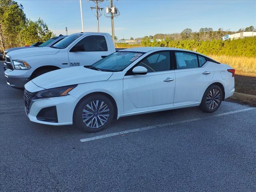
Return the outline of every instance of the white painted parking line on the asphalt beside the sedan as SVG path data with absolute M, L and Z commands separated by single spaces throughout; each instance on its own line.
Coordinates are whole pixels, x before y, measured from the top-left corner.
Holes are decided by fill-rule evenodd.
M 96 136 L 96 137 L 90 137 L 90 138 L 81 139 L 80 142 L 88 142 L 88 141 L 92 141 L 92 140 L 103 139 L 103 138 L 107 138 L 107 137 L 112 137 L 112 136 L 117 136 L 117 135 L 137 132 L 137 131 L 144 131 L 144 130 L 159 128 L 159 127 L 164 127 L 164 126 L 171 126 L 171 125 L 176 125 L 176 124 L 182 124 L 182 123 L 187 123 L 187 122 L 204 120 L 204 119 L 209 119 L 209 118 L 212 118 L 212 117 L 219 117 L 219 116 L 224 116 L 224 115 L 230 115 L 230 114 L 244 112 L 244 111 L 249 111 L 249 110 L 253 110 L 253 109 L 256 109 L 256 108 L 255 107 L 251 107 L 251 108 L 246 108 L 246 109 L 241 109 L 241 110 L 236 110 L 236 111 L 216 114 L 216 115 L 208 116 L 208 117 L 205 117 L 205 118 L 194 118 L 194 119 L 188 119 L 188 120 L 184 120 L 184 121 L 158 124 L 158 125 L 147 126 L 147 127 L 137 128 L 137 129 L 130 129 L 130 130 L 125 130 L 125 131 L 120 131 L 120 132 L 100 135 L 100 136 Z

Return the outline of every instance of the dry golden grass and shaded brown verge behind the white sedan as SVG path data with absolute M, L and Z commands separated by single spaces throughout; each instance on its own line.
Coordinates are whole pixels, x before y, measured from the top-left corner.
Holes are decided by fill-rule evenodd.
M 140 44 L 116 44 L 116 48 L 140 47 Z M 256 106 L 256 58 L 244 56 L 209 55 L 218 62 L 228 64 L 236 69 L 236 92 L 229 101 Z

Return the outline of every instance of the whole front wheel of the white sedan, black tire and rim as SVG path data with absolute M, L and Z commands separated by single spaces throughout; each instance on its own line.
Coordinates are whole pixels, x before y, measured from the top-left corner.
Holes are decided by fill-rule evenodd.
M 97 103 L 97 101 L 98 101 L 98 103 Z M 93 105 L 92 102 L 94 102 L 96 105 L 98 104 L 97 105 L 98 110 L 95 107 L 96 105 Z M 103 102 L 103 104 L 102 104 L 102 102 Z M 87 107 L 88 105 L 90 106 L 90 104 L 93 105 L 92 110 L 90 109 L 91 107 L 90 108 Z M 100 113 L 101 111 L 99 109 L 101 109 L 100 108 L 101 104 L 102 104 L 103 109 L 104 109 L 104 107 L 103 107 L 104 104 L 107 105 L 106 110 L 109 109 L 108 117 L 104 117 L 105 115 L 107 115 L 106 114 L 107 112 Z M 87 110 L 88 110 L 88 112 L 86 112 Z M 73 123 L 74 123 L 74 126 L 79 128 L 80 130 L 92 133 L 92 132 L 98 132 L 98 131 L 106 128 L 112 122 L 113 117 L 114 117 L 114 106 L 113 106 L 112 102 L 110 101 L 110 99 L 104 95 L 95 94 L 95 95 L 85 97 L 78 102 L 78 104 L 74 110 Z M 107 118 L 107 120 L 106 120 L 106 118 Z M 90 120 L 92 121 L 92 123 L 90 123 Z M 84 123 L 84 121 L 85 121 L 85 123 Z M 95 125 L 94 125 L 94 123 L 95 123 Z M 104 123 L 104 124 L 102 125 L 102 123 Z

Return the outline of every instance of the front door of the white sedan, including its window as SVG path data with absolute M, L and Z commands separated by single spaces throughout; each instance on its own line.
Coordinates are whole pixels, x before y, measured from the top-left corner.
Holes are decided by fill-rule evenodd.
M 135 65 L 146 67 L 147 74 L 124 76 L 125 113 L 173 106 L 175 73 L 170 61 L 169 51 L 156 52 Z

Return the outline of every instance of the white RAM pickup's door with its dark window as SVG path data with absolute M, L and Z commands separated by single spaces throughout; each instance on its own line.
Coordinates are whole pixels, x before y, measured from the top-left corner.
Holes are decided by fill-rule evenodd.
M 112 52 L 108 48 L 106 39 L 107 37 L 104 34 L 94 34 L 84 37 L 74 45 L 84 46 L 83 51 L 72 51 L 74 46 L 68 50 L 69 65 L 71 67 L 92 65 L 102 59 L 102 56 L 111 54 Z

